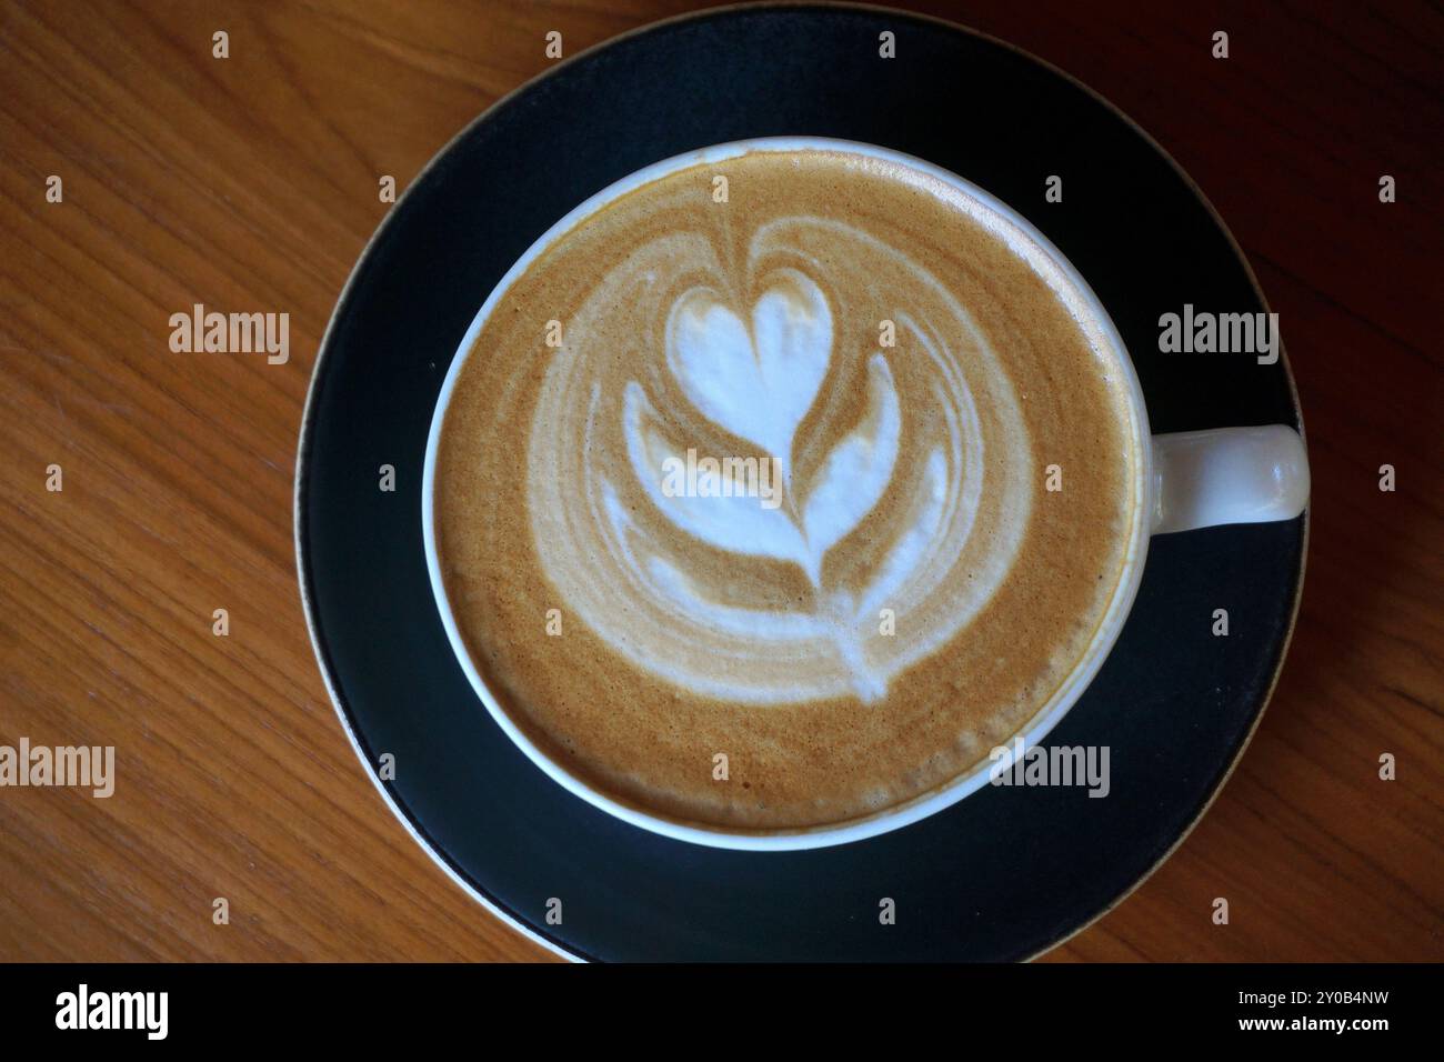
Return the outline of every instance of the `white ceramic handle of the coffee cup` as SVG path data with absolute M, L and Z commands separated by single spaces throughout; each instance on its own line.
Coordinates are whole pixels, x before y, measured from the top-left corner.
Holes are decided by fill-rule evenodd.
M 1308 504 L 1308 455 L 1292 428 L 1154 436 L 1154 535 L 1292 520 Z

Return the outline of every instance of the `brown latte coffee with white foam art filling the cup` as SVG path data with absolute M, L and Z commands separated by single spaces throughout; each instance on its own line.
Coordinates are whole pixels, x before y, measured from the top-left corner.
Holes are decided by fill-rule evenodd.
M 580 218 L 492 306 L 436 452 L 488 691 L 593 789 L 718 829 L 986 761 L 1087 655 L 1141 519 L 1087 306 L 979 198 L 849 150 Z

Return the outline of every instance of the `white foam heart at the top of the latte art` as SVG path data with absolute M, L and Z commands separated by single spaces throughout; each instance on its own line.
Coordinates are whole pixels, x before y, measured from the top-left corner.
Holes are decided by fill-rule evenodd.
M 667 319 L 667 366 L 713 423 L 754 442 L 791 474 L 793 436 L 832 360 L 832 309 L 796 269 L 773 275 L 751 329 L 716 292 L 693 288 Z

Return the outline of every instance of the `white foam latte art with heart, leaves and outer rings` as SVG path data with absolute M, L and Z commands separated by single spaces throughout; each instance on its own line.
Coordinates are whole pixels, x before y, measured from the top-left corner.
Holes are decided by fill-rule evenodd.
M 663 236 L 580 305 L 531 420 L 537 553 L 660 679 L 747 704 L 877 701 L 1006 578 L 1031 511 L 1028 432 L 986 337 L 904 250 L 812 215 L 744 247 L 726 262 L 705 233 Z M 608 345 L 625 329 L 634 348 Z M 666 493 L 689 448 L 773 461 L 783 503 Z M 784 568 L 807 587 L 778 603 Z

